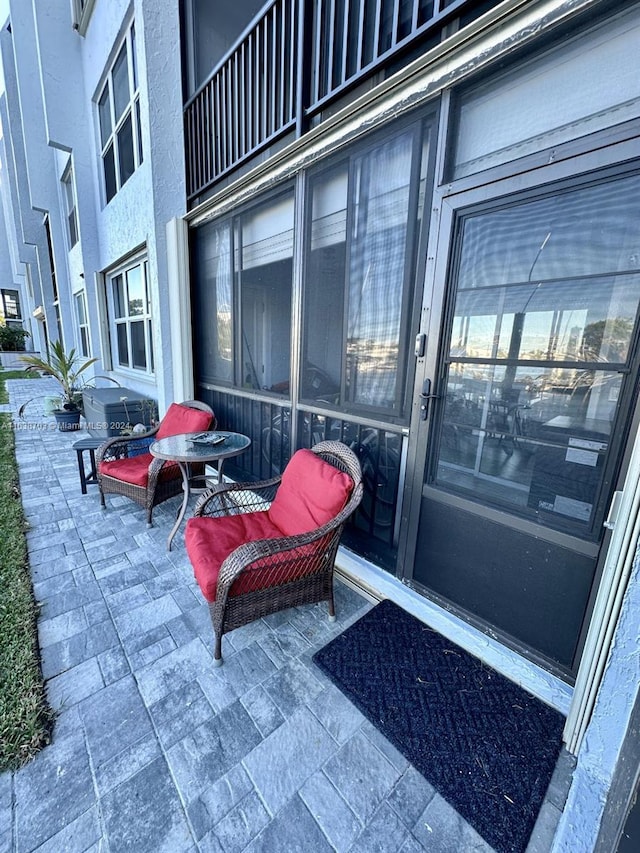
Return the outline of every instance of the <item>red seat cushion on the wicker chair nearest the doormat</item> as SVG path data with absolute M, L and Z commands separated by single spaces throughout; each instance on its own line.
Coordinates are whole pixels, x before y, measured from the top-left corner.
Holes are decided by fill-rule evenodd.
M 249 512 L 224 518 L 190 518 L 185 529 L 185 546 L 198 586 L 207 601 L 216 600 L 220 566 L 240 545 L 257 539 L 279 539 L 282 531 L 267 512 Z M 267 584 L 268 585 L 268 584 Z M 246 572 L 234 585 L 232 595 L 265 586 L 260 572 Z

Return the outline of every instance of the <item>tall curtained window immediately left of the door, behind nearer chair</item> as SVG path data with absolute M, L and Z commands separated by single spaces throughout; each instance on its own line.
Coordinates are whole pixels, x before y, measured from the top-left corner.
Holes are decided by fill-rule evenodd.
M 404 414 L 418 143 L 414 125 L 311 181 L 302 400 Z

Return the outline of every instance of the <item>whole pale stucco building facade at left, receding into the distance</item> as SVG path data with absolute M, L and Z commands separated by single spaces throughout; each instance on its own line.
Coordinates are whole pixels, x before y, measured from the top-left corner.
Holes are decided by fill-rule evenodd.
M 104 275 L 146 247 L 153 313 L 155 379 L 114 369 L 123 385 L 158 399 L 163 411 L 173 399 L 171 312 L 166 260 L 166 224 L 184 215 L 182 86 L 176 4 L 149 0 L 95 4 L 86 34 L 72 27 L 68 0 L 46 4 L 12 2 L 11 33 L 2 33 L 7 74 L 7 110 L 15 128 L 18 245 L 24 257 L 35 245 L 38 284 L 50 335 L 57 335 L 46 281 L 42 213 L 49 214 L 67 346 L 77 342 L 73 297 L 84 290 L 92 351 L 108 364 Z M 97 98 L 135 20 L 143 161 L 107 204 L 101 174 Z M 15 67 L 11 66 L 15 62 Z M 148 81 L 152 81 L 149 85 Z M 22 127 L 28 134 L 21 139 Z M 79 241 L 71 247 L 61 178 L 72 165 Z M 37 300 L 36 300 L 37 301 Z

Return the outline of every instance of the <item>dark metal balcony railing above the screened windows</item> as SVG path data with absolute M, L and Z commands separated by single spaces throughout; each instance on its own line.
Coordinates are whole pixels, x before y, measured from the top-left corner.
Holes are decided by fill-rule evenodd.
M 501 0 L 495 0 L 498 5 Z M 190 201 L 480 0 L 275 0 L 185 106 Z

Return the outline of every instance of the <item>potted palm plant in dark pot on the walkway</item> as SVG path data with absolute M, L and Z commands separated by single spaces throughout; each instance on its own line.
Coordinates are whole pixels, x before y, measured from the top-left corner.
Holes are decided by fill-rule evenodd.
M 82 413 L 82 389 L 86 387 L 81 374 L 97 360 L 97 358 L 83 359 L 75 349 L 65 352 L 62 341 L 54 341 L 51 344 L 46 358 L 36 355 L 20 356 L 20 361 L 27 365 L 25 368 L 27 371 L 37 371 L 44 376 L 52 376 L 58 381 L 60 394 L 51 408 L 51 413 L 56 419 L 59 430 L 78 429 Z M 19 417 L 23 417 L 25 408 L 33 399 L 36 398 L 27 400 L 20 406 Z

